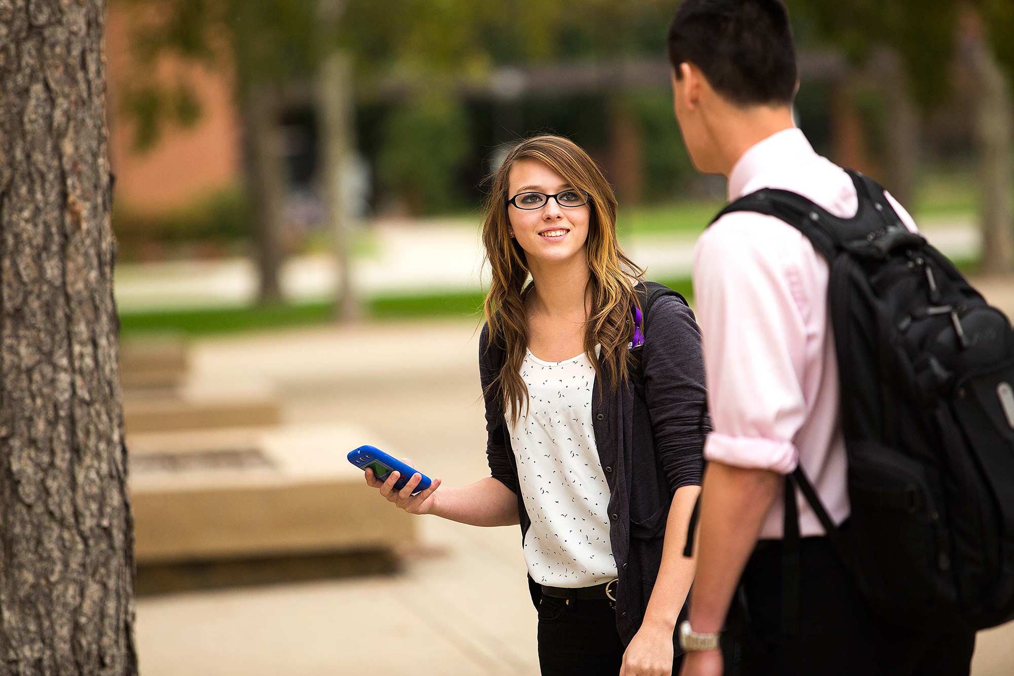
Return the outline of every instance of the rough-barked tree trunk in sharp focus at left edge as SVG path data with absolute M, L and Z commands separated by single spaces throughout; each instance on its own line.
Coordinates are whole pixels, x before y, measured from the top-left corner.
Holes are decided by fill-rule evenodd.
M 135 674 L 105 3 L 0 5 L 0 672 Z

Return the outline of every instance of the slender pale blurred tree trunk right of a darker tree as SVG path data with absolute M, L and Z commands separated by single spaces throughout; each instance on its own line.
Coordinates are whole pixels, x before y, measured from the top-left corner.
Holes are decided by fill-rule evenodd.
M 320 63 L 317 78 L 317 113 L 320 120 L 321 178 L 328 216 L 335 236 L 338 263 L 338 303 L 340 322 L 361 317 L 359 298 L 352 275 L 352 209 L 345 193 L 346 173 L 350 170 L 352 143 L 352 68 L 349 57 L 333 52 Z

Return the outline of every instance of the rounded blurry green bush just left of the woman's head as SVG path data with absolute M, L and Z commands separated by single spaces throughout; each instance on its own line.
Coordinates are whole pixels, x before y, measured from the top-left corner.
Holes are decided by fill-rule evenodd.
M 377 178 L 414 213 L 458 206 L 455 178 L 469 150 L 468 118 L 452 99 L 408 99 L 385 121 Z

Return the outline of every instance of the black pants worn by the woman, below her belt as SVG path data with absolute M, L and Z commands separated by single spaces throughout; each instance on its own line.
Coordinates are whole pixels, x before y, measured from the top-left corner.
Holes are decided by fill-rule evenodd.
M 538 666 L 542 676 L 618 676 L 626 647 L 617 611 L 601 600 L 571 601 L 542 595 L 538 603 Z M 672 663 L 679 674 L 682 656 Z

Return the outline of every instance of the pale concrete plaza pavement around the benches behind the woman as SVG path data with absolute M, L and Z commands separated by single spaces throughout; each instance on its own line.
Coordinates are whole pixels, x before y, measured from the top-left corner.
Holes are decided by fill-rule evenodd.
M 1014 309 L 1014 284 L 990 284 L 987 297 Z M 434 321 L 217 338 L 194 344 L 195 368 L 198 384 L 270 382 L 288 421 L 355 421 L 373 430 L 363 443 L 462 485 L 488 472 L 476 329 Z M 140 599 L 142 673 L 537 674 L 517 528 L 420 526 L 422 546 L 397 576 Z M 1014 673 L 1014 624 L 980 634 L 972 673 Z

